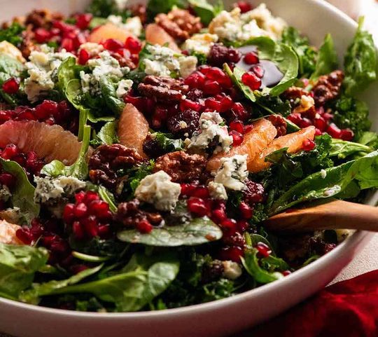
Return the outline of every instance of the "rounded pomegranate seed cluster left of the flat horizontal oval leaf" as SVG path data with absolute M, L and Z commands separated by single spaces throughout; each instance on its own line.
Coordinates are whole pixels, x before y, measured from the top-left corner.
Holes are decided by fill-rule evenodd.
M 64 222 L 71 226 L 73 237 L 76 240 L 109 238 L 113 219 L 109 204 L 92 191 L 76 193 L 75 199 L 74 204 L 66 204 L 63 212 Z

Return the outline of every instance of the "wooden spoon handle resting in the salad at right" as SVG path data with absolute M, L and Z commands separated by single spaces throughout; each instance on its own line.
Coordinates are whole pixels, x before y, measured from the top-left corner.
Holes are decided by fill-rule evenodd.
M 265 221 L 271 231 L 361 229 L 378 232 L 378 207 L 334 200 L 314 207 L 288 209 Z

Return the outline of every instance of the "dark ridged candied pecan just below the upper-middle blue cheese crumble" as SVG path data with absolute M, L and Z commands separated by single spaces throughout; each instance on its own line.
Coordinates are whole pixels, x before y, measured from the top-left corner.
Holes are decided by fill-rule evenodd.
M 183 93 L 188 92 L 188 85 L 179 79 L 150 75 L 144 78 L 143 83 L 139 83 L 138 90 L 146 97 L 172 102 L 181 101 Z

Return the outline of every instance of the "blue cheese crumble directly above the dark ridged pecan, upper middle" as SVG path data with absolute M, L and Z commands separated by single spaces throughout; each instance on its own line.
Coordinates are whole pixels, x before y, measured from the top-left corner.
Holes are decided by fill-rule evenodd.
M 147 75 L 169 77 L 179 74 L 186 78 L 197 66 L 197 57 L 178 54 L 171 48 L 155 45 L 147 46 L 147 50 L 153 55 L 153 60 L 144 60 Z

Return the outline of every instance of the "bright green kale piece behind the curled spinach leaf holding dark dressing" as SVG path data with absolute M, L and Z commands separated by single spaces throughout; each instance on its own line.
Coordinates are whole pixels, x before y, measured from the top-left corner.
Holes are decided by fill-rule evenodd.
M 318 56 L 315 48 L 310 46 L 309 39 L 301 36 L 294 27 L 287 27 L 283 30 L 281 41 L 295 50 L 299 61 L 298 74 L 308 78 L 315 71 Z

